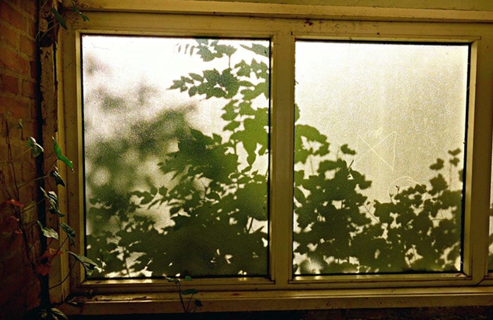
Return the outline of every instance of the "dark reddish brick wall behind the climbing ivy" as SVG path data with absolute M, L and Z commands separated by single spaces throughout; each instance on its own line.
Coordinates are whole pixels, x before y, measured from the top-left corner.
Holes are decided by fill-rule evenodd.
M 7 162 L 8 115 L 15 177 L 19 184 L 35 178 L 35 160 L 26 140 L 38 134 L 38 55 L 37 0 L 0 0 L 0 170 L 6 188 L 0 188 L 0 203 L 14 197 L 13 170 Z M 22 119 L 23 128 L 17 128 Z M 26 208 L 35 204 L 37 186 L 28 184 L 19 190 L 19 199 Z M 34 207 L 23 213 L 27 227 L 37 219 Z M 0 319 L 19 319 L 24 312 L 39 304 L 40 285 L 27 258 L 22 235 L 15 232 L 17 221 L 11 205 L 0 208 Z M 38 227 L 28 229 L 29 245 L 39 256 Z

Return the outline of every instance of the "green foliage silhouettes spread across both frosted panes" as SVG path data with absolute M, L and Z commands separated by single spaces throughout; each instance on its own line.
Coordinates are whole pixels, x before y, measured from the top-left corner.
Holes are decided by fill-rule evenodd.
M 217 40 L 179 47 L 204 63 L 227 57 L 228 67 L 189 73 L 169 88 L 221 101 L 223 135 L 190 128 L 190 109 L 183 108 L 136 123 L 137 134 L 119 136 L 117 143 L 86 145 L 96 155 L 86 159 L 91 162 L 86 169 L 87 255 L 103 265 L 96 277 L 268 275 L 268 172 L 259 172 L 255 163 L 269 152 L 269 66 L 262 60 L 269 49 L 258 43 L 242 48 L 259 58 L 231 66 L 240 48 Z M 125 100 L 98 90 L 112 101 L 103 102 L 108 112 Z M 254 99 L 266 107 L 254 106 Z M 317 167 L 311 174 L 294 172 L 295 274 L 460 269 L 462 190 L 452 190 L 442 174 L 447 165 L 462 181 L 459 149 L 449 151 L 447 164 L 437 159 L 430 166 L 429 183 L 398 189 L 379 202 L 365 195 L 371 181 L 344 160 L 356 152 L 345 144 L 331 158 L 327 137 L 300 124 L 299 113 L 296 106 L 294 161 L 315 159 Z M 134 149 L 141 163 L 157 163 L 169 179 L 155 185 L 150 174 L 128 163 L 124 155 Z M 109 172 L 106 182 L 95 183 L 103 169 Z M 147 187 L 129 178 L 135 176 Z M 172 223 L 159 226 L 155 217 L 142 214 L 150 209 Z

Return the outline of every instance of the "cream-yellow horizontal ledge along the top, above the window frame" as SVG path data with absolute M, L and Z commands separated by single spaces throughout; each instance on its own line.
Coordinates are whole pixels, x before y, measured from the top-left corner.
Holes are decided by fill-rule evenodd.
M 71 8 L 68 0 L 66 7 Z M 432 8 L 390 8 L 372 6 L 334 6 L 313 4 L 255 3 L 241 1 L 133 1 L 107 0 L 97 3 L 79 0 L 78 6 L 85 11 L 126 11 L 150 13 L 186 13 L 235 15 L 252 17 L 277 17 L 295 19 L 334 19 L 367 21 L 442 21 L 482 22 L 493 21 L 493 13 L 485 10 L 456 10 Z

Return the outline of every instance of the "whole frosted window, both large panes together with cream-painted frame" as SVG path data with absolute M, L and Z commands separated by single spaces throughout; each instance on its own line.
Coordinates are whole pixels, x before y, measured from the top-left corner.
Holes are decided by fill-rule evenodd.
M 173 311 L 179 273 L 208 311 L 491 297 L 489 24 L 182 5 L 61 39 L 69 219 L 101 263 L 71 292 Z

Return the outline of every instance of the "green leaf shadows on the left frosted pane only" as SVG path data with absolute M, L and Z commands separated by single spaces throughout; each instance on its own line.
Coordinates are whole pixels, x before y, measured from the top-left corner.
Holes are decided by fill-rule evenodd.
M 206 39 L 197 39 L 196 49 L 204 62 L 230 58 L 237 50 Z M 268 101 L 268 69 L 257 58 L 174 81 L 170 89 L 227 101 L 222 107 L 226 134 L 209 136 L 191 128 L 186 113 L 193 108 L 184 107 L 136 123 L 134 134 L 119 136 L 118 143 L 101 139 L 86 145 L 86 150 L 93 148 L 86 155 L 94 155 L 86 156 L 87 253 L 104 266 L 96 276 L 267 274 L 268 172 L 256 160 L 268 156 L 268 108 L 252 100 Z M 91 72 L 98 70 L 92 65 Z M 125 101 L 105 96 L 103 107 L 108 100 Z M 137 161 L 129 163 L 129 154 L 136 154 Z M 157 163 L 164 182 L 155 185 L 143 174 L 147 189 L 135 190 L 132 177 L 141 170 L 136 164 L 147 160 Z M 101 172 L 104 183 L 97 176 Z M 138 212 L 142 209 L 160 210 L 171 223 L 158 226 Z

